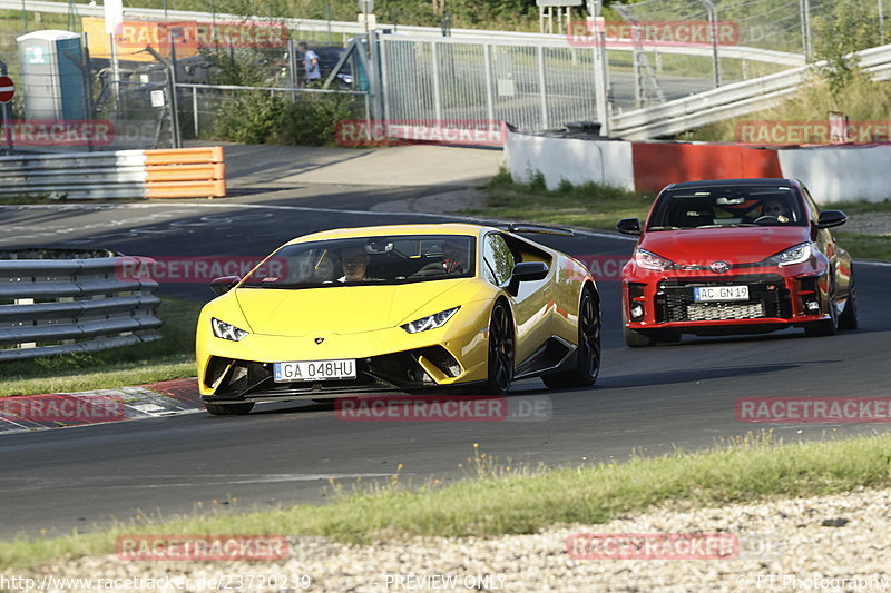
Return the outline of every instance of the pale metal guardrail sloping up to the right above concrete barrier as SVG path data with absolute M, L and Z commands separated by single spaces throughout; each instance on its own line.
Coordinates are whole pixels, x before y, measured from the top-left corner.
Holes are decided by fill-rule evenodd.
M 874 78 L 891 78 L 891 45 L 870 48 L 851 56 L 856 56 L 860 68 Z M 628 140 L 644 140 L 754 113 L 793 95 L 807 81 L 813 70 L 825 63 L 819 61 L 663 105 L 626 111 L 611 118 L 611 135 Z

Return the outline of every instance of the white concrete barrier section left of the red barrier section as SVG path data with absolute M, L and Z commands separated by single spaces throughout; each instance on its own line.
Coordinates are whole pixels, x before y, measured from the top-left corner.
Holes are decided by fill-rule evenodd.
M 564 179 L 572 185 L 597 182 L 634 190 L 631 142 L 529 136 L 508 131 L 505 160 L 511 178 L 529 182 L 545 176 L 548 189 Z

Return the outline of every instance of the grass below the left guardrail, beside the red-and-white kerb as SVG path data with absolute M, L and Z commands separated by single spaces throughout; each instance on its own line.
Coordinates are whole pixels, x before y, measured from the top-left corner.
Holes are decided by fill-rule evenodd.
M 0 363 L 0 397 L 107 389 L 195 376 L 195 323 L 202 305 L 164 298 L 161 339 L 89 354 Z

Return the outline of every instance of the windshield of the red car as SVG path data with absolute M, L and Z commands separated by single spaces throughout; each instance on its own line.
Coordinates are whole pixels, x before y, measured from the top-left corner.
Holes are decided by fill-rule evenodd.
M 664 191 L 647 230 L 805 224 L 792 187 L 702 186 Z

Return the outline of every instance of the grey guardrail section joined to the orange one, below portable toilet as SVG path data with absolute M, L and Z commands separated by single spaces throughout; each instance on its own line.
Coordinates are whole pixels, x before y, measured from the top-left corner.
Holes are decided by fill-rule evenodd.
M 0 196 L 144 198 L 141 150 L 0 157 Z

